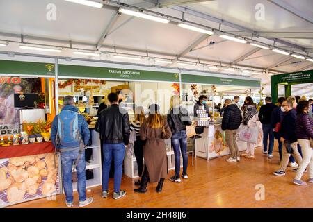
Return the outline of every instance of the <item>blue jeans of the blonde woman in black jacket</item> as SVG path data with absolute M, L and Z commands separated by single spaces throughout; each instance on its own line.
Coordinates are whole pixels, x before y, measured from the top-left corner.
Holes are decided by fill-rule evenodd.
M 172 135 L 172 148 L 175 155 L 175 176 L 179 177 L 180 172 L 180 151 L 183 157 L 183 174 L 187 173 L 188 155 L 187 155 L 187 135 L 186 130 Z

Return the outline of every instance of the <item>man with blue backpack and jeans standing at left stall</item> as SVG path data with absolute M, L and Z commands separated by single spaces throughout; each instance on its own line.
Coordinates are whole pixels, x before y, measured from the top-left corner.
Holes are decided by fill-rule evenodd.
M 85 207 L 93 202 L 93 198 L 86 198 L 86 161 L 84 145 L 90 139 L 90 130 L 85 118 L 78 114 L 74 107 L 72 96 L 65 96 L 63 109 L 54 117 L 51 126 L 51 140 L 54 147 L 61 153 L 63 171 L 63 187 L 67 207 L 73 207 L 72 171 L 77 170 L 77 190 L 79 193 L 79 207 Z M 74 167 L 73 167 L 74 164 Z M 72 169 L 73 167 L 73 169 Z

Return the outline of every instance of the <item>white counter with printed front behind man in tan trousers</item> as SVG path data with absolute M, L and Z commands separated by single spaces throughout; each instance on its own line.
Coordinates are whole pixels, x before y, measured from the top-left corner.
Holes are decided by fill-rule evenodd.
M 259 139 L 258 143 L 255 144 L 255 148 L 263 146 L 263 133 L 262 133 L 262 123 L 257 121 L 257 126 L 259 127 Z M 240 128 L 243 125 L 241 124 Z M 240 129 L 239 128 L 239 129 Z M 221 133 L 223 138 L 217 139 L 217 133 Z M 195 139 L 195 156 L 212 159 L 215 157 L 222 157 L 225 155 L 230 155 L 230 148 L 225 145 L 225 131 L 221 129 L 221 124 L 211 125 L 204 127 L 204 132 L 200 135 L 202 138 Z M 246 151 L 246 142 L 238 141 L 237 144 L 239 151 Z

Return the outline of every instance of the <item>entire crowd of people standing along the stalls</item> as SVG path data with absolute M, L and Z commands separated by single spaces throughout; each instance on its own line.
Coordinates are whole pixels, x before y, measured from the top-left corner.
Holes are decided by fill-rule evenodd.
M 118 94 L 110 93 L 107 96 L 108 105 L 98 112 L 95 130 L 99 132 L 102 146 L 102 198 L 109 196 L 109 174 L 111 166 L 114 168 L 113 198 L 125 196 L 126 191 L 120 189 L 122 181 L 122 165 L 125 157 L 125 146 L 134 143 L 134 155 L 138 164 L 139 179 L 134 189 L 136 193 L 147 192 L 149 182 L 157 183 L 157 192 L 163 189 L 164 180 L 168 177 L 166 144 L 164 139 L 171 139 L 175 153 L 175 174 L 170 177 L 172 182 L 182 182 L 188 179 L 187 166 L 187 133 L 186 126 L 191 125 L 188 111 L 183 108 L 178 95 L 170 99 L 170 110 L 167 118 L 161 117 L 160 107 L 157 104 L 149 106 L 146 117 L 142 107 L 135 108 L 134 120 L 129 122 L 127 110 L 121 108 Z M 259 112 L 257 105 L 250 96 L 247 96 L 241 107 L 239 96 L 234 100 L 226 99 L 223 108 L 216 105 L 223 113 L 222 129 L 225 130 L 225 140 L 230 148 L 230 157 L 227 162 L 240 162 L 240 157 L 255 159 L 255 143 L 247 142 L 246 152 L 241 156 L 237 144 L 239 127 L 257 128 L 257 121 L 261 121 L 264 134 L 262 153 L 269 159 L 273 157 L 274 139 L 278 140 L 280 153 L 280 169 L 275 176 L 284 176 L 287 165 L 298 167 L 295 169 L 296 185 L 306 185 L 301 180 L 306 168 L 309 171 L 309 182 L 313 182 L 313 101 L 296 99 L 289 96 L 280 97 L 278 105 L 272 103 L 271 97 L 266 97 L 265 105 Z M 200 96 L 195 110 L 203 106 L 209 112 L 206 104 L 207 97 Z M 72 195 L 72 164 L 77 169 L 79 207 L 93 202 L 93 198 L 86 198 L 86 163 L 83 144 L 88 144 L 90 131 L 85 119 L 77 114 L 72 96 L 65 96 L 64 107 L 52 123 L 51 139 L 54 146 L 61 151 L 63 183 L 65 187 L 66 205 L 73 206 Z M 64 136 L 65 135 L 65 136 Z M 269 143 L 269 144 L 268 144 Z M 181 174 L 182 156 L 182 174 Z M 297 164 L 296 164 L 297 162 Z

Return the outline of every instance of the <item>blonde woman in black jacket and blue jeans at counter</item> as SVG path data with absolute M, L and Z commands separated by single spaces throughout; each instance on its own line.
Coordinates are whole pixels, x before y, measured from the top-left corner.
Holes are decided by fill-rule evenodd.
M 168 113 L 168 126 L 172 130 L 172 148 L 175 154 L 175 176 L 170 178 L 172 182 L 181 182 L 180 180 L 180 151 L 183 157 L 182 178 L 188 179 L 187 166 L 187 134 L 186 126 L 191 125 L 191 119 L 188 111 L 182 108 L 180 97 L 178 95 L 170 98 L 170 112 Z

